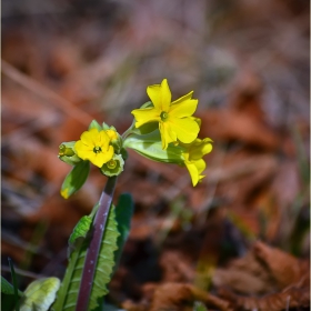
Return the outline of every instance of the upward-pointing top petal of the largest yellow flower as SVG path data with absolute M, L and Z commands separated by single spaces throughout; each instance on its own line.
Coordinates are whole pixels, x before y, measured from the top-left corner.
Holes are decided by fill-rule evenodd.
M 154 108 L 162 111 L 169 111 L 171 104 L 171 91 L 168 84 L 168 80 L 163 79 L 161 84 L 154 84 L 147 88 L 147 93 L 151 99 Z

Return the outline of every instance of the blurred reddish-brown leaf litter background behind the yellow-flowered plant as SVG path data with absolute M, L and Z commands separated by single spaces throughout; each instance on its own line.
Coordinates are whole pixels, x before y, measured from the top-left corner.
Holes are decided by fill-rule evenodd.
M 93 168 L 62 199 L 71 168 L 58 146 L 92 119 L 122 133 L 149 100 L 146 88 L 163 78 L 173 99 L 194 91 L 200 137 L 214 148 L 195 188 L 185 169 L 130 152 L 116 201 L 132 193 L 136 212 L 109 299 L 139 304 L 167 282 L 213 291 L 230 284 L 217 271 L 257 240 L 309 258 L 309 1 L 3 0 L 1 13 L 8 280 L 8 257 L 21 289 L 62 278 L 68 237 L 104 187 Z

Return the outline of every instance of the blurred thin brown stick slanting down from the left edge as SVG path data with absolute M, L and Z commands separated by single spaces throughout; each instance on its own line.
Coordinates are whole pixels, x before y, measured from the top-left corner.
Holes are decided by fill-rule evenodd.
M 70 101 L 63 99 L 58 93 L 51 91 L 47 87 L 40 84 L 36 80 L 29 78 L 28 76 L 21 73 L 14 67 L 1 60 L 1 71 L 7 77 L 11 78 L 13 81 L 20 83 L 24 88 L 31 90 L 37 96 L 53 101 L 60 110 L 71 116 L 72 118 L 79 120 L 82 124 L 89 126 L 92 118 L 84 111 L 78 109 Z

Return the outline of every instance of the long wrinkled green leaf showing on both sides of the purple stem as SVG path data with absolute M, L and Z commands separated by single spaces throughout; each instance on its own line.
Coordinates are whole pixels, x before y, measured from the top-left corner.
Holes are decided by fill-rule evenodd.
M 97 308 L 98 300 L 108 293 L 107 284 L 111 279 L 111 273 L 114 265 L 113 253 L 117 249 L 117 239 L 119 237 L 114 208 L 110 209 L 106 224 L 107 225 L 101 242 L 100 255 L 98 258 L 97 270 L 93 280 L 93 288 L 90 297 L 89 310 Z M 87 249 L 88 239 L 79 249 L 71 253 L 64 279 L 58 292 L 57 301 L 52 305 L 53 310 L 76 310 Z

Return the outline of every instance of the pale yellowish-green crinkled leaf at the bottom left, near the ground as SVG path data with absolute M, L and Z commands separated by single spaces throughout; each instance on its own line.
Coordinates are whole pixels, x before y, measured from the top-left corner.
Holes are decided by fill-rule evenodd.
M 20 311 L 47 311 L 56 299 L 60 280 L 58 278 L 47 278 L 36 280 L 28 285 L 21 301 Z

